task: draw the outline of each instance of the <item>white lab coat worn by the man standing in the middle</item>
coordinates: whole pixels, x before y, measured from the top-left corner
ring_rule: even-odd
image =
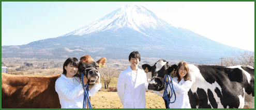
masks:
[[[135,75],[129,66],[118,77],[117,94],[124,108],[146,108],[147,76],[144,70],[139,68],[137,77]]]

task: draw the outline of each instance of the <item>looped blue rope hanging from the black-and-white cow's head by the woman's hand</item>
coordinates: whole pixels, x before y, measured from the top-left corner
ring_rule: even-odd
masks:
[[[168,77],[168,81],[165,80],[166,77]],[[175,94],[175,91],[174,91],[174,88],[173,88],[173,83],[172,83],[172,86],[171,86],[169,79],[171,79],[171,82],[172,82],[172,77],[171,76],[169,76],[169,75],[164,76],[165,89],[164,89],[164,93],[163,93],[163,99],[167,100],[168,108],[170,108],[169,107],[170,103],[174,103],[176,101],[176,94]],[[168,91],[167,91],[168,85],[170,86],[171,93],[172,93],[170,98],[168,97]],[[174,94],[174,101],[170,102],[169,100],[172,98],[173,94]]]

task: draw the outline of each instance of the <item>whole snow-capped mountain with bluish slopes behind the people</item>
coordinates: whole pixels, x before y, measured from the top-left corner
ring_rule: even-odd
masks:
[[[245,51],[212,41],[189,29],[172,26],[146,6],[130,5],[57,38],[2,46],[2,58],[67,59],[89,54],[92,57],[127,59],[133,50],[139,51],[142,57],[192,62]]]

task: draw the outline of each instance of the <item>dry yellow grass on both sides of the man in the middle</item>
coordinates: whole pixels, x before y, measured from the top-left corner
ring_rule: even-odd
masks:
[[[91,100],[93,108],[123,108],[116,92],[98,91]],[[165,108],[162,97],[146,92],[146,108]]]

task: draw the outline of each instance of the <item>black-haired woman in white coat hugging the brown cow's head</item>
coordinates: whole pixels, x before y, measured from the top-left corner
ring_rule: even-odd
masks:
[[[55,82],[55,90],[58,93],[62,108],[83,108],[84,90],[78,73],[79,61],[77,58],[68,58],[63,64],[63,74]],[[86,77],[83,78],[87,82]],[[86,85],[86,83],[84,83]],[[95,84],[89,90],[89,96],[93,96],[101,88],[101,84]],[[88,104],[88,102],[87,102]],[[88,108],[88,105],[86,106]]]

